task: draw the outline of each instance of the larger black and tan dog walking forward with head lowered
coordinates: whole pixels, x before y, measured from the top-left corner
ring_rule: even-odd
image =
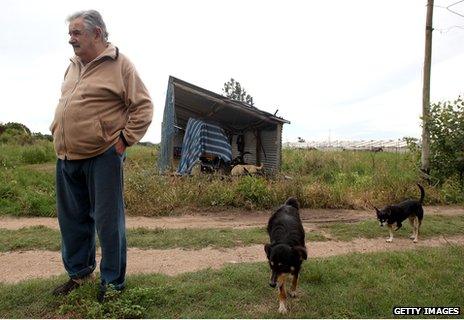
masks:
[[[280,313],[287,312],[285,291],[287,275],[293,276],[289,294],[295,297],[301,264],[308,258],[299,207],[295,198],[289,198],[272,214],[267,224],[270,243],[264,246],[264,251],[271,267],[269,285],[273,288],[278,286],[279,289]]]

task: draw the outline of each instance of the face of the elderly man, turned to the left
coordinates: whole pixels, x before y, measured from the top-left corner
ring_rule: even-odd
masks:
[[[89,62],[95,51],[95,34],[84,27],[82,17],[69,23],[69,44],[72,45],[76,56],[83,62]]]

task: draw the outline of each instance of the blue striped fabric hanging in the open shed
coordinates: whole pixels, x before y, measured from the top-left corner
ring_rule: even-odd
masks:
[[[224,161],[232,160],[232,147],[224,130],[214,124],[190,118],[182,142],[182,155],[177,172],[190,174],[200,156],[209,153]]]

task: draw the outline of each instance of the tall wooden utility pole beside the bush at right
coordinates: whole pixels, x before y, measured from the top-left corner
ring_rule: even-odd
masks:
[[[430,172],[430,68],[432,64],[433,0],[427,0],[425,23],[424,84],[422,88],[422,154],[421,171],[428,178]]]

